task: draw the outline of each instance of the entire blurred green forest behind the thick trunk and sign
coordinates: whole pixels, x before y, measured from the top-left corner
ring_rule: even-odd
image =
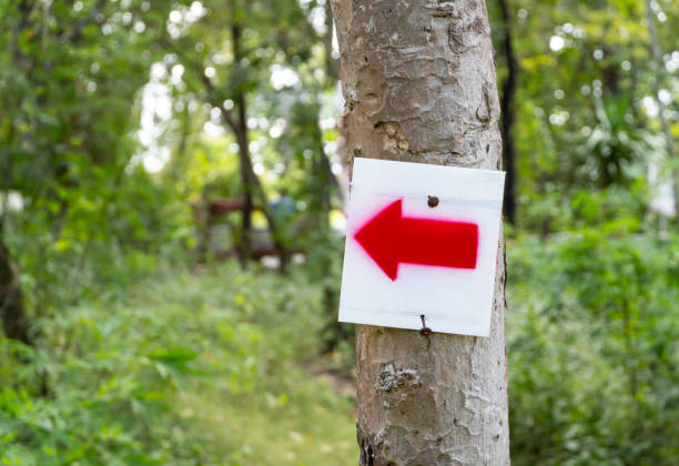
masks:
[[[679,464],[679,2],[487,0],[511,456]],[[0,1],[0,464],[355,464],[326,0]]]

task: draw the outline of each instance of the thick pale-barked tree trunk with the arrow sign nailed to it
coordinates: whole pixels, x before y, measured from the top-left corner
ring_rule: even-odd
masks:
[[[483,0],[333,0],[353,156],[498,170]],[[505,259],[488,338],[358,325],[362,465],[507,465]],[[455,304],[450,303],[452,311]]]

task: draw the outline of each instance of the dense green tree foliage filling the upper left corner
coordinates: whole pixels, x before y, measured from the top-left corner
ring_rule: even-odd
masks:
[[[0,242],[26,306],[45,315],[180,252],[186,213],[132,138],[166,7],[38,3],[0,6]]]

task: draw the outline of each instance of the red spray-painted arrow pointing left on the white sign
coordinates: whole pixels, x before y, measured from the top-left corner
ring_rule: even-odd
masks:
[[[404,217],[401,199],[367,221],[354,237],[392,281],[399,263],[476,269],[476,223]]]

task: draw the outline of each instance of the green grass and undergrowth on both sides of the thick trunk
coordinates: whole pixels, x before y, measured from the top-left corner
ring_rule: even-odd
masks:
[[[515,464],[679,464],[677,244],[508,242]],[[352,348],[322,357],[336,314],[310,270],[162,269],[55,305],[36,348],[0,337],[0,465],[356,464],[330,376]]]

